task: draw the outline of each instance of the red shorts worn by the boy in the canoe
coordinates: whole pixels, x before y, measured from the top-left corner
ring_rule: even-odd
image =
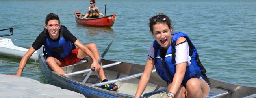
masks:
[[[80,62],[81,60],[83,60],[83,59],[77,58],[78,50],[79,50],[79,48],[72,50],[68,56],[61,58],[61,60],[59,60],[59,58],[55,57],[60,62],[59,67],[76,64],[77,62]]]

